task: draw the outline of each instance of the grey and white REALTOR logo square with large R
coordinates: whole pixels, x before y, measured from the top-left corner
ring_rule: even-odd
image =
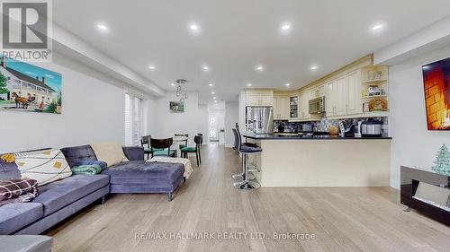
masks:
[[[51,61],[49,0],[1,1],[3,56],[31,62]]]

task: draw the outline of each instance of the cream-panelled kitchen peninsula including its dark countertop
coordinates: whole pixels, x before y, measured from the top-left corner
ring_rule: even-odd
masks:
[[[261,187],[389,187],[390,137],[243,135]]]

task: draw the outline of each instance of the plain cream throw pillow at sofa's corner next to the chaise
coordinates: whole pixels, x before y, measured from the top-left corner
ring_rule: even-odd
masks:
[[[91,143],[98,161],[104,161],[108,167],[129,161],[119,143]]]

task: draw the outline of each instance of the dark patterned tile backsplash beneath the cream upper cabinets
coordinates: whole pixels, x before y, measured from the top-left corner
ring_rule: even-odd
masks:
[[[349,125],[357,125],[359,121],[367,121],[369,118],[373,118],[375,120],[379,120],[383,122],[382,126],[382,134],[383,136],[389,135],[389,123],[388,117],[360,117],[360,118],[351,118],[351,119],[335,119],[329,120],[326,117],[322,117],[320,121],[316,122],[289,122],[289,121],[274,121],[274,132],[279,132],[279,126],[284,127],[284,132],[328,132],[329,126],[337,126],[341,120],[347,121]],[[282,129],[282,128],[280,128]]]

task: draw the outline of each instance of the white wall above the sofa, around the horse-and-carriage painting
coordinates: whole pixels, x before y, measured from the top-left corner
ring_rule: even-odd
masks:
[[[54,61],[34,65],[62,74],[62,114],[0,110],[0,153],[123,142],[121,86],[75,71],[89,73],[64,56],[56,56]]]

